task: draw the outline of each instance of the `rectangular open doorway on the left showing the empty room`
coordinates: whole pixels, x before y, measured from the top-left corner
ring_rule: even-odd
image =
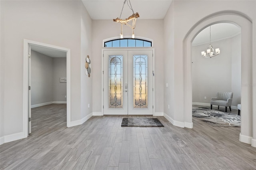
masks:
[[[31,126],[29,134],[45,125],[66,123],[66,51],[30,45]],[[31,68],[31,69],[30,69]]]

